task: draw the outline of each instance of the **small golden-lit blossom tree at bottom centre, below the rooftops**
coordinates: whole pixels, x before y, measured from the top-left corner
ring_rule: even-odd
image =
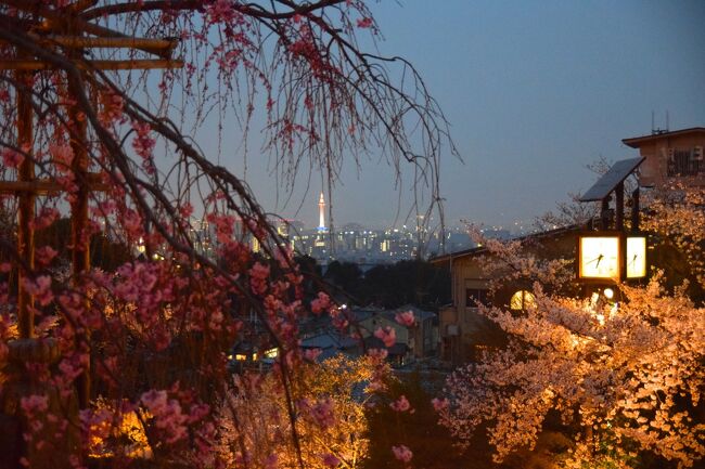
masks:
[[[307,468],[360,468],[368,455],[366,403],[373,359],[336,356],[299,368],[293,398]],[[219,420],[226,431],[218,451],[227,467],[296,467],[286,402],[273,375],[238,378]],[[234,438],[233,438],[234,437]]]

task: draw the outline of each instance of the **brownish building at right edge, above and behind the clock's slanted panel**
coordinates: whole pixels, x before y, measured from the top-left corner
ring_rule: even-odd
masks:
[[[621,142],[646,158],[640,168],[641,186],[659,187],[671,182],[705,186],[705,128],[656,131]]]

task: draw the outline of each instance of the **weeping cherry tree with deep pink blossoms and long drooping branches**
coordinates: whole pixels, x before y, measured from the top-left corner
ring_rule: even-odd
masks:
[[[0,1],[2,204],[18,217],[0,236],[0,393],[21,448],[10,464],[81,467],[95,447],[128,464],[134,452],[95,440],[127,418],[152,465],[218,467],[227,354],[247,338],[279,350],[270,389],[286,457],[305,466],[302,272],[244,180],[191,134],[215,115],[244,141],[259,113],[289,184],[320,169],[330,191],[344,157],[381,153],[399,171],[409,162],[437,207],[447,122],[411,64],[366,52],[359,35],[379,37],[360,0]],[[68,212],[66,271],[26,239]],[[192,218],[208,223],[210,250]],[[99,233],[134,259],[92,266]],[[233,435],[248,404],[229,416]]]

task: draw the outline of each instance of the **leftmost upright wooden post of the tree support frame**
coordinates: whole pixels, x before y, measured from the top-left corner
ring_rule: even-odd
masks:
[[[35,179],[35,161],[31,157],[34,142],[31,92],[24,87],[31,80],[31,75],[17,71],[17,146],[28,155],[20,165],[17,180],[30,182]],[[21,339],[29,339],[35,335],[35,300],[24,287],[29,278],[29,272],[35,268],[35,194],[23,191],[20,196],[20,213],[17,220],[17,251],[22,263],[17,269],[17,323]]]

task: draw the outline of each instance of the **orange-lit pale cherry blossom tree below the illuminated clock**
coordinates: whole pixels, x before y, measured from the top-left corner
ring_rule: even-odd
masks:
[[[702,233],[690,231],[690,240],[702,243]],[[620,295],[614,301],[566,296],[559,287],[571,276],[569,263],[542,264],[517,243],[486,246],[495,272],[534,282],[535,301],[521,314],[480,308],[509,343],[454,372],[445,399],[435,402],[459,442],[469,444],[486,427],[501,461],[534,447],[557,413],[575,442],[553,461],[559,467],[639,467],[646,455],[661,466],[702,463],[702,304],[684,287],[668,291],[658,272],[645,286],[613,286]]]

